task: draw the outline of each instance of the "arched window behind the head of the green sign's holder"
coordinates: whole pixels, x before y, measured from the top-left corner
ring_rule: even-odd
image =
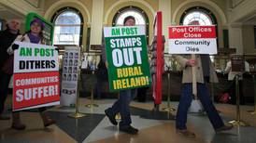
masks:
[[[128,16],[135,17],[135,25],[145,26],[147,42],[149,44],[149,18],[145,13],[145,11],[142,10],[141,8],[133,7],[133,6],[121,8],[114,16],[114,19],[112,20],[112,25],[113,26],[123,25],[123,20]]]

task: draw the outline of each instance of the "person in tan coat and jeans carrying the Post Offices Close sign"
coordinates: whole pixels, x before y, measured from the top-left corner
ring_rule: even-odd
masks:
[[[198,25],[198,21],[193,21],[190,25]],[[217,83],[218,77],[214,71],[214,67],[209,58],[209,55],[196,55],[196,58],[191,56],[174,56],[180,64],[182,75],[182,91],[178,104],[178,112],[176,119],[177,133],[183,136],[195,137],[195,134],[187,129],[187,115],[192,103],[192,67],[195,67],[195,77],[197,86],[197,97],[200,99],[207,116],[216,132],[229,130],[233,126],[225,125],[220,118],[218,111],[215,109],[206,87],[206,82]]]

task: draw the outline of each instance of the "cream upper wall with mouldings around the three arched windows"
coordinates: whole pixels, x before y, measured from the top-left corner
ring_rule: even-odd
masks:
[[[235,46],[237,39],[241,40],[239,43],[242,45],[240,51],[245,53],[256,53],[255,44],[253,41],[253,26],[244,25],[242,26],[241,34],[238,34],[239,28],[231,28],[234,25],[234,22],[241,22],[248,19],[249,17],[256,14],[255,7],[256,2],[254,0],[244,0],[241,3],[236,4],[235,6],[232,3],[228,3],[223,0],[163,0],[161,3],[159,1],[152,0],[102,0],[104,1],[104,14],[101,18],[104,26],[111,26],[112,20],[116,12],[122,7],[135,6],[143,9],[149,17],[149,42],[152,38],[153,32],[153,20],[155,12],[158,10],[165,10],[164,21],[169,22],[173,25],[178,25],[180,17],[184,10],[189,7],[206,7],[211,10],[217,18],[218,21],[218,36],[219,36],[219,45],[223,47],[223,37],[222,30],[229,29],[230,45]],[[27,2],[32,2],[28,4]],[[232,2],[232,1],[229,1]],[[183,5],[186,3],[186,5]],[[27,11],[34,11],[39,15],[44,16],[47,20],[50,20],[54,12],[62,7],[75,7],[81,11],[81,14],[84,18],[84,27],[83,27],[83,38],[82,45],[87,43],[87,29],[92,26],[92,4],[93,0],[44,0],[44,1],[25,1],[25,0],[0,0],[0,4],[8,7],[11,11],[19,13],[21,20],[25,19],[25,14]],[[161,6],[161,5],[162,6]],[[163,6],[163,4],[169,4],[169,6]],[[33,7],[37,5],[39,7]],[[43,6],[42,6],[43,5]],[[115,7],[113,7],[115,6]],[[170,7],[170,9],[167,9]],[[25,9],[25,10],[22,10]],[[242,10],[241,10],[242,9]],[[240,10],[240,11],[239,11]],[[0,13],[4,13],[0,11]],[[166,14],[167,13],[167,14]],[[10,15],[12,15],[10,13]],[[13,16],[15,16],[13,14]],[[169,19],[169,20],[168,20]],[[24,22],[24,21],[23,21]],[[94,24],[94,23],[93,23]],[[22,24],[23,27],[24,24]],[[165,23],[165,26],[168,25]],[[23,28],[21,28],[21,32]],[[232,32],[234,31],[234,32]],[[101,33],[101,32],[99,32]],[[236,35],[233,33],[237,33]],[[241,36],[240,36],[241,35]],[[242,37],[242,39],[240,38]],[[236,42],[236,43],[235,43]],[[231,47],[230,46],[230,47]]]

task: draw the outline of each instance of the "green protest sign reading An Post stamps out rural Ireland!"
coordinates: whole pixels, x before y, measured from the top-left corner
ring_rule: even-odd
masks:
[[[104,28],[110,91],[151,84],[145,33],[143,26]]]

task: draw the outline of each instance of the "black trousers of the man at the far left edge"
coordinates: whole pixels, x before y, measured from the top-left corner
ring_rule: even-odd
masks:
[[[0,114],[5,109],[5,102],[7,99],[8,84],[11,74],[7,74],[4,71],[0,71]]]

